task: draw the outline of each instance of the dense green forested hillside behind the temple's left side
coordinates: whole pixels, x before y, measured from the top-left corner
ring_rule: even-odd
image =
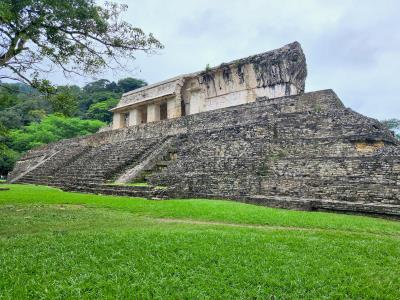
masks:
[[[0,85],[0,175],[27,150],[94,133],[111,122],[109,109],[122,93],[145,86],[140,79],[100,79],[83,87],[57,86],[43,94],[23,83]]]

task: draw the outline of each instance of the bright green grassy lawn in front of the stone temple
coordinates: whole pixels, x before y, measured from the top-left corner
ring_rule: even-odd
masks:
[[[0,191],[0,298],[400,298],[400,222]]]

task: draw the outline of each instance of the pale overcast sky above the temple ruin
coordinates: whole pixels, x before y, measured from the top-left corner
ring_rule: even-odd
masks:
[[[108,73],[110,80],[154,83],[297,40],[307,58],[306,91],[331,88],[360,113],[400,118],[400,1],[118,2],[129,5],[124,19],[152,32],[165,49],[138,55],[135,71]]]

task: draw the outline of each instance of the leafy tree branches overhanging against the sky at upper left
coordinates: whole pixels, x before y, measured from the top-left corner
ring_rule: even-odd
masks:
[[[90,75],[122,66],[121,59],[134,58],[136,51],[162,48],[151,33],[121,20],[126,9],[95,0],[1,0],[0,80],[48,91],[51,86],[40,74],[54,66],[65,75]]]

